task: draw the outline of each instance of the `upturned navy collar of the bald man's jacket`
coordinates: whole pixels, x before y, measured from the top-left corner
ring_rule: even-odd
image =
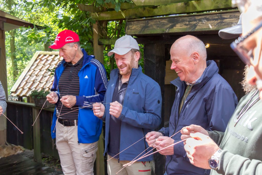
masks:
[[[200,88],[202,87],[204,84],[206,84],[206,82],[209,81],[210,78],[212,78],[216,73],[218,73],[218,67],[216,65],[216,62],[213,60],[208,60],[206,61],[206,68],[203,72],[203,74],[201,75],[201,77],[198,79],[198,81],[196,81],[196,83],[194,84],[194,88]],[[173,81],[170,82],[171,84],[173,84],[174,86],[176,86],[178,88],[178,90],[183,91],[183,89],[185,89],[185,87],[187,86],[187,84],[185,83],[185,81],[181,81],[180,78],[176,78]]]

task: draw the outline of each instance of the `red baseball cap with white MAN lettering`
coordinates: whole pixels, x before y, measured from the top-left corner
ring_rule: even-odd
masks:
[[[79,36],[72,30],[63,30],[61,31],[54,40],[54,43],[49,47],[51,49],[59,49],[67,43],[74,43],[79,41]]]

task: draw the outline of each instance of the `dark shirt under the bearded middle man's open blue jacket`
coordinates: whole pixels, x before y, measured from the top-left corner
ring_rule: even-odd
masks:
[[[125,92],[127,91],[128,81],[122,83],[122,75],[118,74],[118,79],[116,83],[116,88],[114,89],[112,102],[117,101],[123,105]],[[115,156],[119,153],[120,146],[120,132],[121,132],[121,120],[110,115],[110,127],[109,127],[109,146],[108,146],[108,155]],[[114,158],[119,158],[117,155]]]

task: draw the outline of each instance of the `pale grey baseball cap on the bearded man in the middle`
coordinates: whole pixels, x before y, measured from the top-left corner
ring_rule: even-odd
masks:
[[[130,35],[125,35],[116,40],[114,49],[107,53],[108,56],[113,55],[114,53],[118,55],[125,55],[131,49],[139,50],[137,41]]]

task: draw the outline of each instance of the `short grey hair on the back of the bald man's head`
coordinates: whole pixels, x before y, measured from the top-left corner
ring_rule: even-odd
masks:
[[[206,60],[207,54],[206,54],[206,46],[200,39],[196,38],[191,39],[190,43],[188,43],[188,54],[191,55],[193,52],[198,52],[199,56]]]

